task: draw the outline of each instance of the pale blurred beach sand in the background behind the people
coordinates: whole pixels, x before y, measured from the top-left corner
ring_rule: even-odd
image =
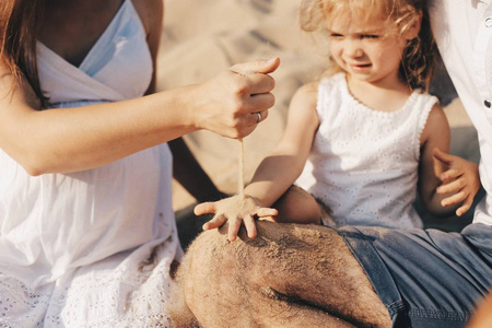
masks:
[[[326,45],[298,27],[300,1],[166,0],[164,3],[159,90],[204,81],[237,62],[281,59],[280,68],[272,74],[277,81],[273,91],[277,103],[267,120],[244,140],[247,181],[279,141],[295,90],[324,71]],[[452,127],[450,152],[477,162],[477,134],[459,99],[446,104],[445,113]],[[223,191],[235,192],[238,142],[208,131],[191,133],[185,140],[212,180]],[[173,187],[177,219],[189,216],[195,199],[177,183]],[[452,219],[445,229],[457,229],[464,222]]]

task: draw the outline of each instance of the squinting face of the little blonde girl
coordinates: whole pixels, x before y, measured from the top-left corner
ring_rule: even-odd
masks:
[[[370,83],[398,83],[406,46],[395,25],[378,17],[347,14],[328,27],[335,61],[352,78]]]

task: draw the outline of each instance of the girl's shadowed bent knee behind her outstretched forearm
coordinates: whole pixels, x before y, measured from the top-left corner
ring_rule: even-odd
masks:
[[[303,188],[291,186],[273,204],[279,211],[274,221],[281,223],[315,223],[320,224],[324,213],[316,199]]]

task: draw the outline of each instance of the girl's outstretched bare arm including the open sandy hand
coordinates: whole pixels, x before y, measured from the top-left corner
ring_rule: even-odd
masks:
[[[301,175],[313,138],[318,127],[316,113],[317,83],[301,87],[293,96],[288,124],[276,149],[258,166],[245,188],[246,199],[237,196],[218,202],[198,204],[195,213],[215,213],[203,225],[204,230],[219,227],[229,221],[227,237],[234,241],[244,222],[249,237],[256,236],[254,216],[274,215],[269,209]],[[251,203],[253,201],[253,203]],[[274,214],[272,214],[274,213]]]

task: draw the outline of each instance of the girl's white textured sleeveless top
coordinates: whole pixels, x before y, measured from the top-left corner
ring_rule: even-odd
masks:
[[[420,136],[437,98],[414,91],[393,113],[359,103],[343,73],[318,87],[319,128],[296,184],[339,225],[420,227],[415,199]]]

